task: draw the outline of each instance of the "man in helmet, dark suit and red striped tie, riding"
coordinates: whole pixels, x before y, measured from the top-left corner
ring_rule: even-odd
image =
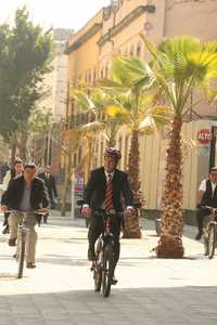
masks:
[[[103,231],[102,219],[95,211],[103,210],[105,213],[116,212],[112,233],[114,235],[114,263],[119,259],[119,233],[122,220],[118,212],[123,211],[122,195],[124,196],[128,212],[133,212],[133,196],[130,191],[127,173],[117,169],[118,160],[122,158],[120,152],[114,147],[107,147],[104,153],[104,167],[91,171],[90,179],[84,193],[82,214],[90,218],[88,232],[88,259],[94,261],[94,243]],[[112,284],[117,280],[113,277]]]

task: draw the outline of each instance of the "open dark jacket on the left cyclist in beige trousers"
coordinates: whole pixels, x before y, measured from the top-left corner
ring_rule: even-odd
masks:
[[[1,198],[1,204],[8,206],[10,209],[18,210],[21,200],[24,195],[25,180],[24,177],[14,178],[8,190],[4,192]],[[47,208],[49,206],[48,193],[44,186],[44,182],[39,178],[35,178],[31,184],[30,205],[33,210]]]

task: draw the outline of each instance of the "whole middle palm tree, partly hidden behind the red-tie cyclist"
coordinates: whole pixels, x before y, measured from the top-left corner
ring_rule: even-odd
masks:
[[[169,109],[155,104],[156,92],[148,89],[153,80],[145,72],[145,65],[138,57],[117,56],[113,60],[110,79],[98,82],[112,100],[106,110],[108,116],[119,118],[131,132],[129,150],[128,178],[135,200],[141,204],[140,192],[140,145],[142,133],[153,133],[158,127],[168,123],[171,116]],[[129,222],[128,222],[129,221]],[[126,220],[124,237],[141,237],[139,218]]]

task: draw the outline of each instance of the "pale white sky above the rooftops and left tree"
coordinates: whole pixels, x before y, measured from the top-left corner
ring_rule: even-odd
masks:
[[[111,0],[0,0],[0,24],[11,22],[17,8],[26,4],[30,17],[46,28],[81,28]]]

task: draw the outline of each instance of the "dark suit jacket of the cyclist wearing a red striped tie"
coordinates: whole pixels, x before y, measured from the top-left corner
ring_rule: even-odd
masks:
[[[113,177],[113,206],[116,211],[123,211],[122,194],[126,206],[133,205],[132,192],[129,188],[127,173],[118,169]],[[84,192],[85,204],[88,204],[93,210],[100,209],[105,199],[106,177],[104,167],[91,171],[90,179]]]

